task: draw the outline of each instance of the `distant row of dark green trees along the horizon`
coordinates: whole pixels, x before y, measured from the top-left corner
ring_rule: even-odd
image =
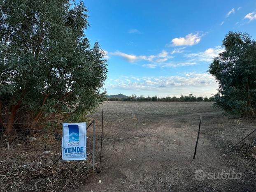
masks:
[[[196,97],[192,94],[189,95],[181,95],[180,97],[158,97],[153,96],[153,97],[144,97],[140,96],[137,97],[137,95],[132,95],[132,97],[123,97],[123,98],[118,98],[118,97],[112,97],[112,98],[107,98],[107,101],[136,101],[136,102],[210,102],[214,101],[214,97]]]

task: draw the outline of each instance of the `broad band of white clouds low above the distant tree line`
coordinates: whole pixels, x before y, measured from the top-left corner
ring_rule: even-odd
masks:
[[[208,73],[186,73],[175,76],[145,76],[145,77],[127,77],[120,76],[118,81],[107,81],[107,90],[131,90],[138,91],[142,95],[147,96],[147,91],[153,94],[172,94],[172,95],[188,95],[193,93],[196,95],[205,94],[210,96],[216,93],[218,84],[214,77]],[[159,96],[159,95],[158,95]]]

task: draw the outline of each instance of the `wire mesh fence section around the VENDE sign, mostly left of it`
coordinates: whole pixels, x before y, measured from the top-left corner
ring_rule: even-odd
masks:
[[[56,123],[54,126],[53,124]],[[3,123],[0,123],[3,125]],[[7,134],[5,129],[0,130],[0,148],[12,150],[33,150],[47,154],[55,152],[61,155],[62,123],[45,122],[33,125],[31,123],[14,123],[15,128]],[[20,127],[20,128],[19,128]],[[27,127],[27,128],[25,128]],[[93,121],[88,123],[88,128],[93,129]],[[86,143],[89,160],[93,153],[93,135],[88,135]],[[48,151],[46,151],[48,150]]]

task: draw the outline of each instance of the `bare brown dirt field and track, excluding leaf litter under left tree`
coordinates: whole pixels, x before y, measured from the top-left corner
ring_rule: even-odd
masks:
[[[96,120],[98,167],[104,109],[101,173],[77,191],[256,191],[255,153],[241,149],[251,145],[255,132],[235,146],[256,128],[256,121],[225,116],[212,104],[105,102],[91,115]],[[227,179],[228,173],[239,179]]]

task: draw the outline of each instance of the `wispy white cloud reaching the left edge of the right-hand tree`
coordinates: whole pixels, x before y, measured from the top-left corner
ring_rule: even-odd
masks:
[[[215,48],[206,49],[204,52],[187,54],[186,57],[191,58],[192,61],[211,62],[221,52],[223,52],[221,46],[216,46]]]

